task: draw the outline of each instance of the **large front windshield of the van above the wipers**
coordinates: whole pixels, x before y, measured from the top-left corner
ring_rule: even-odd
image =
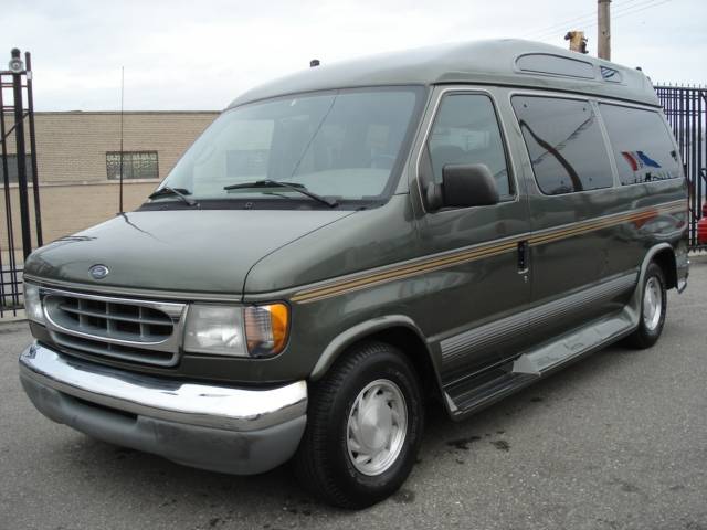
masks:
[[[362,88],[235,107],[203,132],[160,188],[177,189],[197,201],[303,200],[282,187],[233,186],[276,180],[337,201],[380,199],[394,184],[420,92]],[[154,200],[177,198],[165,193]]]

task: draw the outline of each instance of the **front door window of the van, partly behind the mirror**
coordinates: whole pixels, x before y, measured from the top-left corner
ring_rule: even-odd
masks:
[[[442,168],[447,163],[485,163],[496,179],[498,195],[502,199],[511,195],[506,152],[488,96],[445,96],[434,119],[428,148],[435,182],[442,182]]]

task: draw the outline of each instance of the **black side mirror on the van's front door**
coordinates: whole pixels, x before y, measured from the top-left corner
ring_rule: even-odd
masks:
[[[442,184],[430,184],[428,204],[440,208],[469,208],[497,204],[498,188],[485,163],[447,163],[442,168]]]

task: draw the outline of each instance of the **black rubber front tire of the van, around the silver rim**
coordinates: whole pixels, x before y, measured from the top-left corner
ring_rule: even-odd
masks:
[[[359,393],[379,380],[394,383],[404,398],[407,428],[397,457],[370,476],[357,469],[349,456],[348,422]],[[294,457],[300,484],[325,502],[348,509],[366,508],[395,492],[408,478],[422,439],[420,388],[414,368],[397,348],[365,342],[349,350],[310,386],[307,428]]]

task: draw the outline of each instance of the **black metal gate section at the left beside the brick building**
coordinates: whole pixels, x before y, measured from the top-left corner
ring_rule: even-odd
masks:
[[[29,146],[27,145],[29,140]],[[29,149],[28,149],[29,147]],[[22,268],[32,252],[32,235],[42,245],[40,189],[36,174],[32,63],[30,53],[11,51],[0,71],[0,171],[4,192],[4,230],[0,230],[0,318],[22,307]],[[34,230],[28,181],[32,183]],[[17,208],[13,213],[13,208]],[[0,224],[1,226],[1,224]]]

